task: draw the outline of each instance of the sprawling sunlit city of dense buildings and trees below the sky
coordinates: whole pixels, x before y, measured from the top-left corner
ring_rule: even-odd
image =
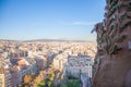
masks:
[[[1,40],[0,87],[86,87],[95,54],[90,42]]]

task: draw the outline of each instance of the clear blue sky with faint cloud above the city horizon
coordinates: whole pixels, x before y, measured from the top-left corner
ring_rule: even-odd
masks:
[[[94,40],[106,0],[0,0],[0,39]]]

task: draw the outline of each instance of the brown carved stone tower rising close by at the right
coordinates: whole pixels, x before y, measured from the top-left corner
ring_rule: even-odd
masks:
[[[106,0],[97,23],[93,87],[131,87],[131,0]]]

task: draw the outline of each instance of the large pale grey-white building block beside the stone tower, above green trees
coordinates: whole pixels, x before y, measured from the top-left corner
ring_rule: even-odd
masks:
[[[64,76],[80,77],[81,74],[92,77],[93,62],[87,57],[71,57],[64,66]]]

